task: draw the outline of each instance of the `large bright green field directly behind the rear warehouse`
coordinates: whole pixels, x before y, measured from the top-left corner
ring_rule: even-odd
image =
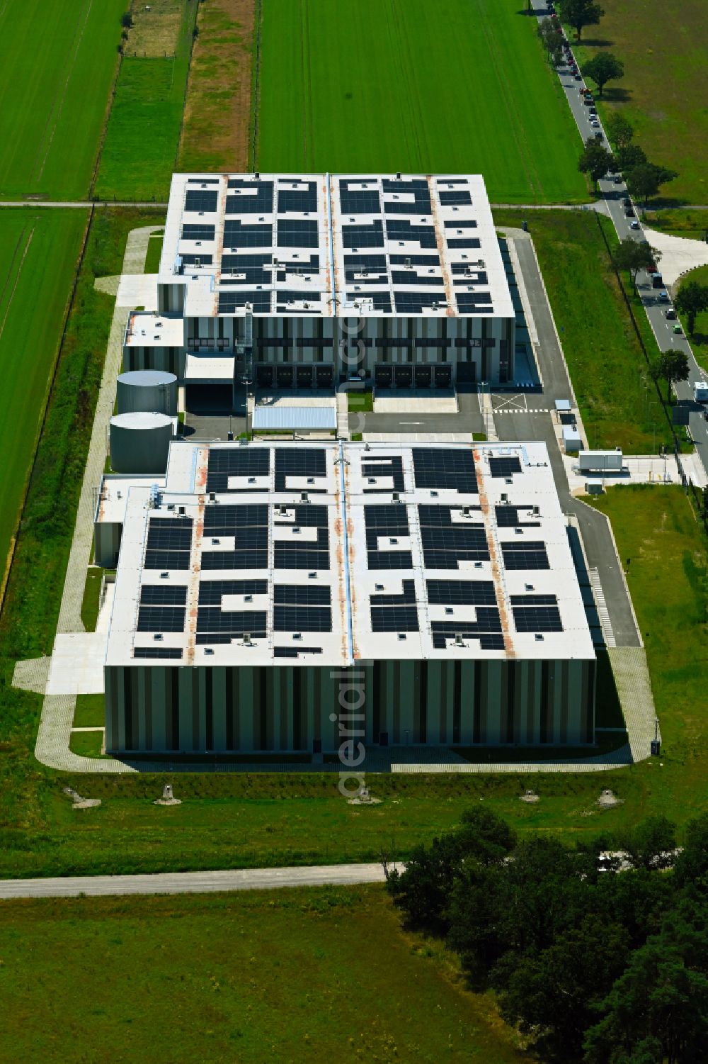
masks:
[[[484,173],[495,202],[586,199],[577,131],[521,7],[268,0],[260,169]]]

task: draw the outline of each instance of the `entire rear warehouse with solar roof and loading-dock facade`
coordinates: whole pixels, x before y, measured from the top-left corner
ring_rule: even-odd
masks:
[[[172,178],[157,312],[123,369],[189,392],[513,379],[515,311],[482,177]]]

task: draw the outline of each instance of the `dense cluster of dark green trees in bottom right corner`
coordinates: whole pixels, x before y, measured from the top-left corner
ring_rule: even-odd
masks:
[[[708,815],[677,850],[663,817],[571,846],[478,807],[387,890],[546,1064],[705,1062]]]

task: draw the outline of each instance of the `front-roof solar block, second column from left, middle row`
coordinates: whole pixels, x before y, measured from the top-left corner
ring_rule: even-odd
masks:
[[[235,538],[235,545],[219,549],[222,538]],[[208,549],[207,549],[208,547]],[[267,569],[268,506],[224,505],[210,503],[204,508],[202,569]]]

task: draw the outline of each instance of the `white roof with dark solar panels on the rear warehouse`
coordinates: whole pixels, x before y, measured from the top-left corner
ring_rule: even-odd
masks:
[[[175,173],[159,283],[185,315],[513,317],[484,179]]]

